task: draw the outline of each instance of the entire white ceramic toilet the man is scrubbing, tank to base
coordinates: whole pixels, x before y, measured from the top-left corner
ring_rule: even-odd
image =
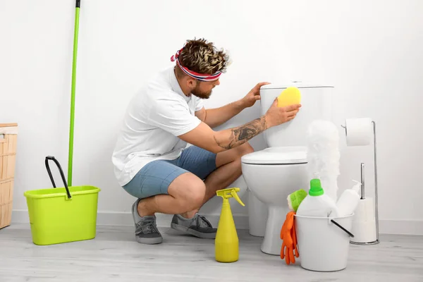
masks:
[[[249,202],[255,203],[248,207],[250,234],[261,235],[257,226],[265,226],[260,249],[269,255],[281,254],[281,228],[289,212],[288,195],[298,189],[309,189],[308,126],[317,119],[333,119],[333,87],[302,82],[264,85],[260,89],[260,114],[266,114],[274,99],[292,86],[301,92],[302,107],[297,116],[288,123],[264,131],[266,149],[241,158],[243,177],[251,197]],[[263,212],[263,207],[267,213]]]

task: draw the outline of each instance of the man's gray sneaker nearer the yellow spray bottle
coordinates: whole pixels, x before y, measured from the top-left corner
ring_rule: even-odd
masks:
[[[171,228],[195,235],[198,238],[214,239],[216,238],[217,228],[213,228],[212,224],[199,214],[195,214],[192,219],[185,219],[179,214],[175,214],[172,219]]]

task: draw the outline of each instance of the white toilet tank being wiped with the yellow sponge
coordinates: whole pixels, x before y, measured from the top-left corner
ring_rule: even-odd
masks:
[[[333,86],[293,82],[281,85],[264,85],[260,88],[260,111],[266,114],[274,99],[287,87],[297,87],[301,93],[301,108],[297,116],[287,123],[265,130],[267,147],[306,146],[307,128],[317,119],[333,121]]]

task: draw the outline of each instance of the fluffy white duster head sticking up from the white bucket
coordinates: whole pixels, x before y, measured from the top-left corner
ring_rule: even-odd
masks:
[[[307,170],[318,178],[326,195],[337,200],[339,175],[339,133],[331,121],[317,120],[307,130]]]

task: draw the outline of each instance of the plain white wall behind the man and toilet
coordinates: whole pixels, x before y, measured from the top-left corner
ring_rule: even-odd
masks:
[[[0,122],[20,125],[13,220],[27,221],[23,192],[51,186],[44,157],[67,170],[74,0],[0,7]],[[209,107],[240,99],[259,81],[302,80],[336,87],[338,125],[373,118],[381,231],[421,233],[422,10],[420,0],[82,0],[73,184],[102,189],[99,212],[111,213],[103,223],[123,219],[133,198],[114,179],[111,151],[125,106],[185,39],[205,37],[233,58]],[[257,106],[223,127],[257,117]],[[252,145],[262,149],[262,136]],[[341,188],[360,178],[364,161],[371,193],[372,147],[341,147]]]

